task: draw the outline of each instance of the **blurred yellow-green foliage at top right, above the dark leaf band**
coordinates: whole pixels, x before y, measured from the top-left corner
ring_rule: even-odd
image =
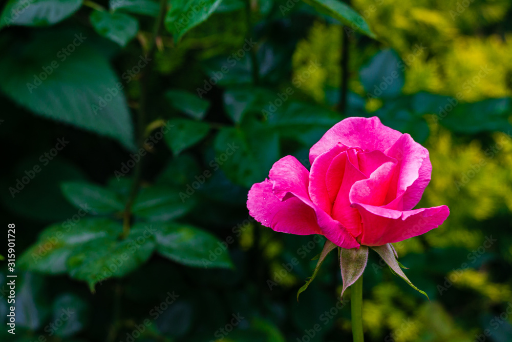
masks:
[[[477,25],[502,20],[510,3],[474,2],[462,9],[458,4],[462,6],[458,0],[356,0],[353,6],[385,46],[395,49],[408,66],[404,93],[429,91],[455,96],[461,92],[464,102],[510,95],[512,37],[467,35],[473,33],[468,29]],[[339,86],[341,33],[339,26],[317,22],[293,56],[295,73],[307,68],[312,59],[321,61],[322,68],[303,86],[303,91],[319,103],[325,100],[326,87]],[[350,88],[364,95],[357,71],[368,61],[372,48],[361,50],[356,43],[351,41]],[[418,47],[424,49],[415,54]]]

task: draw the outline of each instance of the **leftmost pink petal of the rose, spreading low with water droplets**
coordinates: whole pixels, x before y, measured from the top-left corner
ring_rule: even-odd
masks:
[[[314,210],[296,197],[279,200],[272,193],[272,182],[268,179],[251,187],[247,208],[258,222],[276,232],[322,234]]]

